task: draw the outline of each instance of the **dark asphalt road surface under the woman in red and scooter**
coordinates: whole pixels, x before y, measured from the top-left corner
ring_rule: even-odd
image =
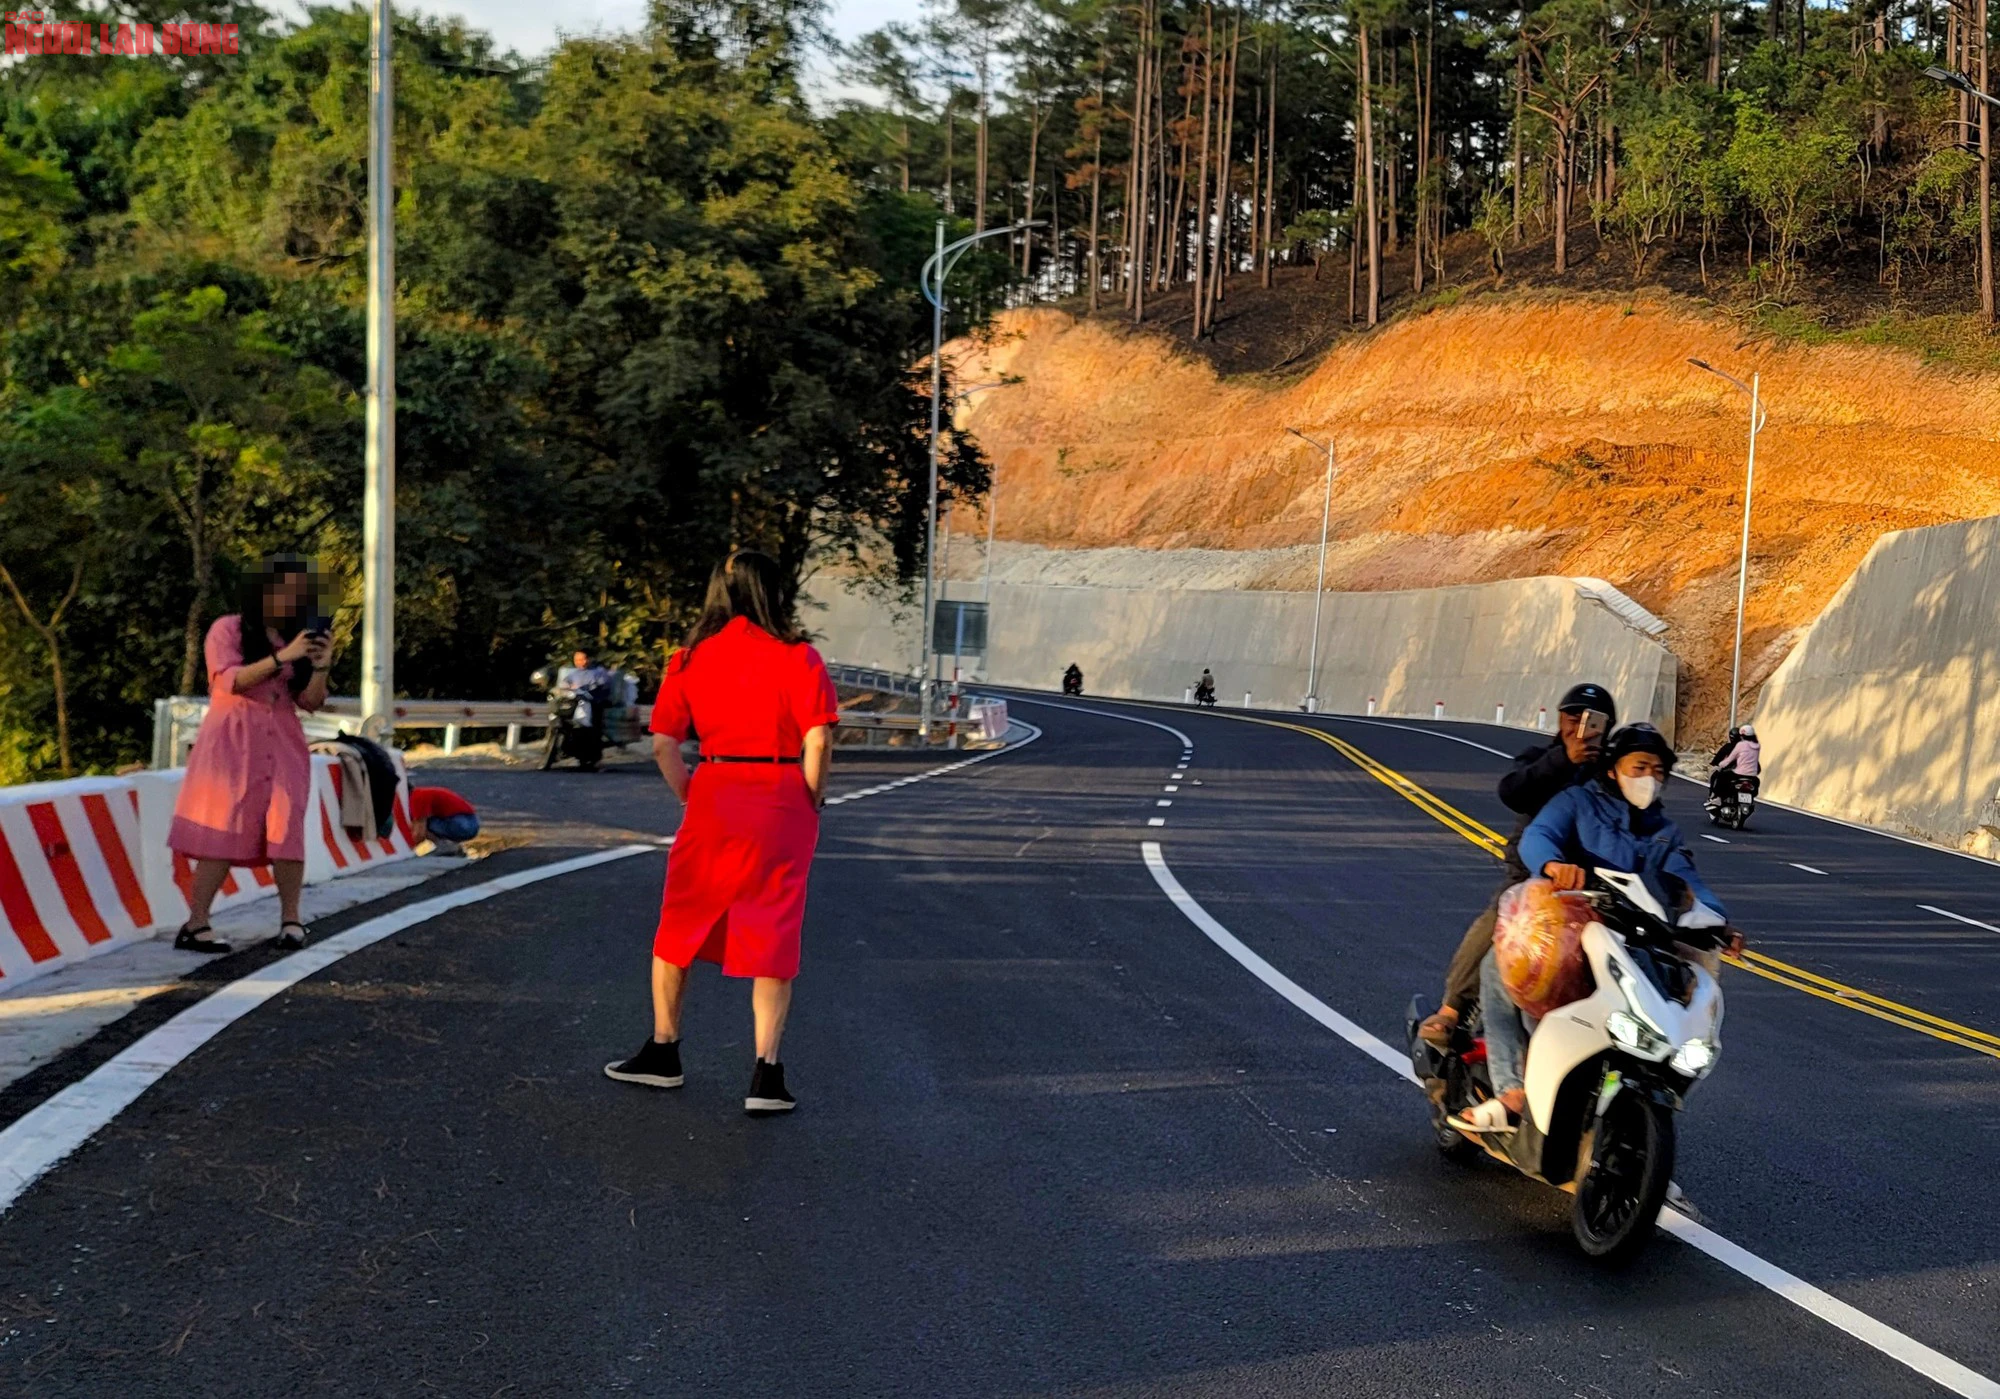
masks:
[[[1564,1195],[1442,1161],[1416,1089],[1224,955],[1140,843],[1390,1043],[1490,855],[1308,735],[1018,713],[1040,741],[828,811],[798,1113],[742,1117],[746,993],[712,969],[684,1089],[602,1077],[646,1033],[658,855],[444,913],[226,1029],[0,1215],[0,1393],[1944,1393],[1674,1239],[1584,1261]],[[1518,731],[1322,723],[1504,823],[1502,759],[1454,739]],[[858,791],[926,759],[838,761]],[[636,775],[472,781],[672,827]],[[2000,925],[1992,865],[1770,807],[1730,841],[1702,865],[1760,947],[2000,1029],[2000,933],[1918,909]],[[1702,1219],[2000,1375],[2000,1061],[1726,991],[1676,1171]]]

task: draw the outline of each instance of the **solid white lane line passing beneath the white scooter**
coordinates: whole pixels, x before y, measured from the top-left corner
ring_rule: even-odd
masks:
[[[1346,1039],[1350,1045],[1366,1053],[1370,1059],[1390,1069],[1402,1079],[1416,1083],[1416,1071],[1410,1067],[1410,1057],[1406,1053],[1396,1053],[1386,1043],[1370,1035],[1366,1029],[1356,1025],[1352,1019],[1330,1007],[1326,1001],[1316,997],[1312,991],[1304,989],[1292,977],[1278,971],[1274,965],[1264,961],[1260,955],[1250,951],[1230,929],[1218,923],[1208,909],[1194,901],[1194,895],[1180,887],[1180,879],[1174,871],[1166,867],[1166,857],[1160,853],[1158,841],[1140,841],[1140,853],[1146,857],[1146,869],[1152,871],[1154,883],[1160,891],[1178,907],[1190,923],[1200,927],[1208,941],[1212,941],[1222,951],[1230,953],[1240,961],[1252,975],[1256,975],[1272,991],[1288,999],[1298,1009],[1306,1011],[1312,1019],[1326,1025],[1330,1031]],[[1786,1301],[1804,1311],[1810,1311],[1820,1321],[1838,1327],[1852,1335],[1864,1345],[1872,1345],[1894,1361],[1900,1361],[1914,1369],[1918,1375],[1932,1379],[1956,1395],[1966,1399],[2000,1399],[2000,1383],[1994,1383],[1974,1369],[1960,1365],[1948,1355],[1940,1355],[1922,1341],[1916,1341],[1902,1331],[1896,1331],[1882,1321],[1876,1321],[1866,1311],[1850,1307],[1832,1293],[1826,1293],[1802,1277],[1786,1273],[1776,1263],[1770,1263],[1740,1243],[1724,1239],[1714,1229],[1698,1225],[1676,1209],[1660,1211],[1660,1227],[1672,1233],[1682,1243],[1688,1243],[1708,1257],[1716,1259],[1728,1269],[1742,1273],[1752,1283],[1768,1287]]]

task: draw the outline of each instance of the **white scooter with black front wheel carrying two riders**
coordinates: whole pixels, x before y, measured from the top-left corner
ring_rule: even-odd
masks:
[[[1654,885],[1654,887],[1648,887]],[[1674,1175],[1674,1113],[1722,1053],[1716,949],[1726,925],[1694,905],[1666,913],[1656,881],[1594,869],[1582,947],[1596,989],[1550,1011],[1528,1039],[1528,1111],[1506,1133],[1466,1133],[1450,1119],[1492,1097],[1486,1041],[1466,1027],[1438,1049],[1416,1027],[1410,1063],[1430,1093],[1438,1147],[1454,1159],[1484,1149],[1522,1175],[1576,1197],[1570,1229],[1584,1253],[1620,1259],[1652,1237]]]

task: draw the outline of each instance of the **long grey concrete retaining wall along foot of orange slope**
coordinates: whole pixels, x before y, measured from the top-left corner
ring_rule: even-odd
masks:
[[[978,598],[976,584],[954,596]],[[828,658],[910,672],[918,608],[892,606],[822,578],[806,626]],[[1180,700],[1202,668],[1218,698],[1296,707],[1306,696],[1312,594],[1236,590],[1078,588],[994,582],[992,654],[972,674],[994,684],[1054,688],[1066,664],[1090,694]],[[950,664],[946,660],[946,664]],[[970,672],[970,664],[968,664]],[[1468,588],[1326,594],[1320,622],[1320,707],[1446,715],[1534,725],[1542,705],[1578,680],[1618,696],[1624,717],[1674,731],[1674,656],[1566,578]]]

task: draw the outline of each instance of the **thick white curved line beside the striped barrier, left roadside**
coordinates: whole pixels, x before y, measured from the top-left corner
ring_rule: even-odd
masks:
[[[12,1209],[34,1181],[82,1147],[110,1121],[130,1107],[140,1093],[158,1083],[166,1073],[190,1053],[206,1045],[238,1019],[254,1011],[280,991],[286,991],[306,977],[324,971],[348,953],[392,937],[406,927],[424,923],[450,909],[480,903],[498,893],[554,879],[556,875],[590,869],[592,865],[626,859],[630,855],[650,855],[660,847],[620,845],[600,849],[572,859],[558,859],[532,869],[454,889],[430,899],[406,903],[400,909],[378,913],[346,931],[334,933],[326,941],[312,943],[304,951],[294,951],[282,961],[274,961],[262,971],[238,977],[174,1015],[158,1029],[142,1035],[136,1043],[120,1049],[96,1069],[70,1083],[60,1093],[28,1109],[0,1131],[0,1213]]]

